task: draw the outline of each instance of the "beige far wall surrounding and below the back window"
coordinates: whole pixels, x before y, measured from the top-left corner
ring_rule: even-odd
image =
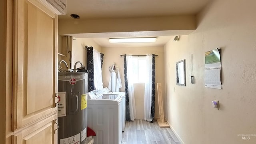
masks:
[[[164,48],[163,47],[122,47],[122,48],[102,48],[104,54],[103,61],[103,86],[107,87],[110,80],[109,66],[115,62],[117,68],[120,70],[120,76],[122,80],[122,88],[120,91],[124,92],[124,57],[122,54],[134,54],[134,55],[145,55],[145,54],[158,54],[155,57],[156,62],[156,83],[162,83],[164,85]],[[157,90],[157,89],[156,89]],[[134,84],[134,95],[136,101],[136,112],[137,119],[144,119],[144,84]],[[163,96],[165,96],[163,90]],[[165,100],[165,97],[164,97]],[[165,100],[166,101],[166,100]],[[165,105],[166,106],[166,105]],[[156,104],[155,104],[155,117],[159,118],[158,110],[158,96],[156,91]]]

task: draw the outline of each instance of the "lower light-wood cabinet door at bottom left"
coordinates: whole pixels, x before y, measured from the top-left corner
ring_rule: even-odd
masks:
[[[56,115],[49,116],[31,127],[16,132],[12,144],[57,144]]]

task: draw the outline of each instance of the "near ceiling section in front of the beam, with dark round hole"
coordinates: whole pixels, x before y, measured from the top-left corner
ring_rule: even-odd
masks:
[[[210,0],[67,0],[67,15],[88,18],[134,18],[152,16],[194,15]]]

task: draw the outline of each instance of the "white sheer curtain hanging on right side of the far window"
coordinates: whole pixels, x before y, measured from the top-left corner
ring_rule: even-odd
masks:
[[[152,104],[152,55],[146,56],[146,82],[144,95],[144,120],[152,121],[151,104]]]

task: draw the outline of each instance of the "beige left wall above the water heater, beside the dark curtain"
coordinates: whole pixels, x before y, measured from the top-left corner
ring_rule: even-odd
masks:
[[[62,40],[62,38],[59,38],[59,40]],[[61,43],[61,42],[59,42]],[[64,43],[62,43],[62,47],[60,48],[65,48],[63,46]],[[72,51],[72,66],[71,68],[74,68],[74,64],[77,61],[80,61],[83,63],[84,66],[87,65],[87,54],[86,54],[86,48],[85,46],[92,46],[94,50],[97,50],[98,52],[101,52],[101,46],[99,46],[96,42],[92,40],[92,38],[75,38],[71,37],[70,38],[70,50]],[[62,51],[63,52],[63,51]],[[68,65],[69,65],[69,54],[67,57],[64,56],[58,56],[58,61],[60,60],[65,60]],[[77,64],[77,68],[79,68],[81,65]]]

